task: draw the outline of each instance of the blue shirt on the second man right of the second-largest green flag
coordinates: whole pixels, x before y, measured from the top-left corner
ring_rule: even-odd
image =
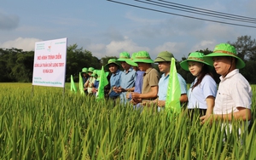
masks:
[[[120,86],[122,89],[131,89],[135,85],[136,79],[136,71],[133,70],[131,67],[127,72],[122,71],[122,75],[120,77]],[[122,92],[120,94],[120,102],[125,103],[127,102],[126,92]]]

